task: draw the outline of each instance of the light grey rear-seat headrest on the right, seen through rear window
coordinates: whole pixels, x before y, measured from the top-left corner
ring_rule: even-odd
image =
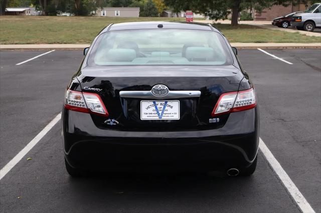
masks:
[[[185,57],[192,61],[213,60],[214,50],[211,47],[191,46],[186,48]]]

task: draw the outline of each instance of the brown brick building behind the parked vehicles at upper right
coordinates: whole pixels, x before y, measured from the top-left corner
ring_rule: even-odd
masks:
[[[288,6],[273,5],[270,8],[263,9],[262,12],[254,11],[254,20],[273,20],[276,17],[280,17],[291,12],[304,11],[306,9],[304,3],[293,4]]]

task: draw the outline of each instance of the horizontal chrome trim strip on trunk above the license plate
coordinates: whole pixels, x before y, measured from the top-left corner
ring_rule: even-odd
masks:
[[[199,97],[201,91],[198,90],[177,90],[169,91],[169,93],[162,97],[154,96],[151,91],[120,91],[120,97],[130,98],[148,98],[148,99],[172,99],[172,98],[184,98],[184,97]]]

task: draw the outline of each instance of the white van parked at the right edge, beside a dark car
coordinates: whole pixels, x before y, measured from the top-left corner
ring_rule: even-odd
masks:
[[[321,3],[314,3],[304,12],[293,15],[291,26],[305,31],[321,28]]]

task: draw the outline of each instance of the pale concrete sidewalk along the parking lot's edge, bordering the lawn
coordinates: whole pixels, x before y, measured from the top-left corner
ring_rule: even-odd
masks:
[[[253,48],[321,48],[320,43],[231,43],[243,49]],[[90,44],[2,44],[0,49],[83,49]]]

